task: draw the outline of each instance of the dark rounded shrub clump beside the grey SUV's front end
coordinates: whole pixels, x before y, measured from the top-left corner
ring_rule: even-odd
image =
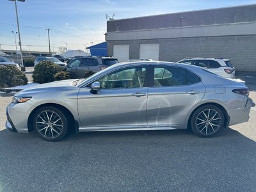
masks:
[[[41,61],[33,72],[34,83],[49,83],[52,81],[70,79],[71,74],[66,68],[54,64],[52,61]]]

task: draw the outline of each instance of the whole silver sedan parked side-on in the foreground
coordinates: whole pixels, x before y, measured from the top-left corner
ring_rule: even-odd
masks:
[[[68,129],[192,129],[212,137],[248,121],[249,90],[236,79],[178,63],[118,63],[88,79],[41,84],[14,95],[6,128],[58,141]]]

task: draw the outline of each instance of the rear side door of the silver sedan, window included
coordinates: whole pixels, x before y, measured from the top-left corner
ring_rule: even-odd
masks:
[[[205,94],[200,77],[183,67],[152,66],[148,88],[148,125],[182,125]]]

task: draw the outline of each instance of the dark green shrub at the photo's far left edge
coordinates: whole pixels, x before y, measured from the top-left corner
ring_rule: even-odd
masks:
[[[28,79],[19,68],[11,65],[0,65],[0,88],[25,85]]]

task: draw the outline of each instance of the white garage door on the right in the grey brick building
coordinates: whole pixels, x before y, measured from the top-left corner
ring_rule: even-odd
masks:
[[[140,44],[140,59],[159,60],[159,44]]]

